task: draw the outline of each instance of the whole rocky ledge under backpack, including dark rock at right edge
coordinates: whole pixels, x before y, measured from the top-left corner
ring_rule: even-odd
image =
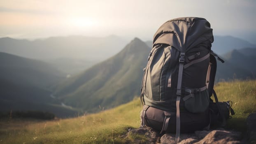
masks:
[[[159,132],[144,126],[143,128],[129,129],[123,137],[126,137],[127,143],[136,144],[256,144],[256,113],[248,116],[247,132],[244,135],[241,132],[218,128],[182,133],[180,141],[176,142],[175,134],[165,133],[164,135],[159,135]],[[133,140],[130,141],[129,137],[133,137]]]

